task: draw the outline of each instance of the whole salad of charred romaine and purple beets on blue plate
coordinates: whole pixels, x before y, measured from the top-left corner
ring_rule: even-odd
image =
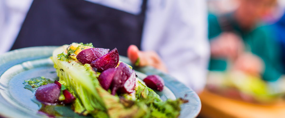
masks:
[[[72,43],[56,48],[51,59],[59,80],[38,77],[24,82],[44,106],[70,106],[81,116],[98,118],[176,118],[180,106],[188,102],[182,98],[162,101],[153,89],[162,91],[163,79],[149,75],[140,80],[132,66],[119,61],[116,48]]]

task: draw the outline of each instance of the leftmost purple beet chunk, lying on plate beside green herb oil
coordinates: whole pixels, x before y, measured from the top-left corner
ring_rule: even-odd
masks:
[[[40,86],[35,93],[36,99],[44,103],[58,103],[60,96],[60,87],[56,83],[49,83]]]

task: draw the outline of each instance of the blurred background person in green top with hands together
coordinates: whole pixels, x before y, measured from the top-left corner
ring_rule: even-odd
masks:
[[[283,74],[280,48],[274,41],[272,27],[261,22],[275,4],[276,0],[239,0],[239,7],[232,13],[210,14],[209,70],[238,69],[261,74],[267,81],[277,80]]]

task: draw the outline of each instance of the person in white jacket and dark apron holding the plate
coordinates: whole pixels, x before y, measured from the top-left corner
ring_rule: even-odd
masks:
[[[205,85],[204,0],[1,0],[0,12],[2,52],[92,42],[169,72],[197,92]]]

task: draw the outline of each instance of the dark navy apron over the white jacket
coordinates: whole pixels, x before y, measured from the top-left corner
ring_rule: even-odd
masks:
[[[34,0],[11,50],[92,42],[127,55],[129,45],[140,47],[145,11],[146,0],[138,15],[84,0]]]

